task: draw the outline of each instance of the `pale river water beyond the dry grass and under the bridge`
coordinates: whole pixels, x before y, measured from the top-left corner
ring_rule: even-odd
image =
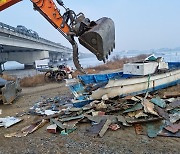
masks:
[[[164,60],[167,62],[168,61],[180,62],[180,51],[163,51],[163,52],[161,52],[161,51],[158,51],[158,52],[154,52],[154,51],[130,51],[130,52],[126,52],[126,51],[124,51],[124,52],[114,52],[113,55],[110,56],[110,59],[116,55],[118,57],[123,58],[123,57],[134,57],[134,56],[137,56],[140,54],[154,54],[157,57],[163,57]],[[66,61],[66,63],[69,66],[75,68],[72,61]],[[98,61],[95,56],[80,59],[80,63],[84,68],[89,67],[89,66],[96,66],[96,65],[103,64],[103,62]],[[7,74],[14,75],[14,76],[17,76],[20,78],[25,77],[25,76],[33,76],[35,74],[39,74],[39,72],[36,70],[24,70],[23,64],[20,64],[20,63],[14,62],[14,61],[6,62],[4,64],[4,69],[6,70],[5,72]]]

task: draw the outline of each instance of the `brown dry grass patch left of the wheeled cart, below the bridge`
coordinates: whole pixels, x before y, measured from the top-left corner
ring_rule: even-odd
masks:
[[[35,87],[45,84],[44,74],[38,74],[32,77],[24,77],[20,80],[21,87]]]

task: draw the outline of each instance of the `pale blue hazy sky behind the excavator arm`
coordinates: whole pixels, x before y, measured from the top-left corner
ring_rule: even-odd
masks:
[[[91,20],[103,16],[115,22],[116,50],[143,50],[180,46],[180,0],[64,0],[76,13]],[[33,29],[41,37],[70,44],[37,11],[23,0],[0,13],[0,21]],[[83,48],[80,48],[84,50]]]

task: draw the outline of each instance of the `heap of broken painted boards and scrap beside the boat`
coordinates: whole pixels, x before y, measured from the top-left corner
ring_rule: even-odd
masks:
[[[19,132],[6,134],[5,137],[26,136],[48,122],[47,132],[61,135],[68,135],[77,130],[78,125],[89,123],[86,133],[93,136],[103,137],[108,129],[123,131],[126,127],[134,127],[137,134],[149,137],[180,137],[179,97],[162,99],[149,94],[94,100],[84,105],[82,102],[62,103],[59,97],[55,97],[37,102],[30,108],[29,114],[39,115],[39,119]],[[9,117],[9,120],[13,120],[12,118]],[[1,118],[1,126],[3,121],[5,119]]]

